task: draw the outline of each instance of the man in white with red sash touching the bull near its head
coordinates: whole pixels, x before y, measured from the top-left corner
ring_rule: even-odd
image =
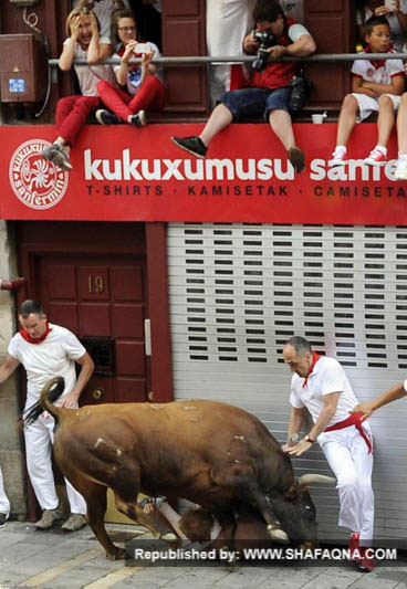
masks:
[[[334,358],[319,356],[303,337],[294,336],[283,348],[285,364],[293,372],[292,406],[283,450],[301,456],[317,442],[336,475],[340,494],[338,525],[351,529],[353,560],[364,571],[373,570],[372,546],[374,495],[372,490],[373,439],[344,369]],[[298,439],[305,410],[314,422],[307,435]]]

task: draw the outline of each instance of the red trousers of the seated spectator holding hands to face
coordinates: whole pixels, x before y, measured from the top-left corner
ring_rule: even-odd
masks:
[[[76,135],[80,133],[88,115],[102,106],[98,96],[66,96],[58,101],[55,124],[58,135],[67,145],[75,145]]]

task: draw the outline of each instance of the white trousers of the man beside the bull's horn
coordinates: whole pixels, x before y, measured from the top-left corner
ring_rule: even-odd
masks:
[[[373,441],[369,424],[363,427]],[[373,454],[355,425],[320,433],[317,442],[335,473],[340,494],[338,525],[361,534],[361,546],[372,546],[374,494],[372,488]]]

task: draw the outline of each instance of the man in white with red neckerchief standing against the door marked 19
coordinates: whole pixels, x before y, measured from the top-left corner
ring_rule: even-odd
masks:
[[[8,355],[0,366],[0,383],[22,364],[27,371],[27,410],[39,400],[46,382],[61,376],[65,381],[65,391],[60,406],[76,408],[80,395],[94,370],[91,356],[69,329],[48,323],[46,315],[36,301],[22,303],[19,320],[22,329],[11,338]],[[75,362],[81,366],[77,379]],[[43,509],[41,519],[35,524],[40,529],[51,527],[62,516],[51,460],[54,424],[54,419],[44,411],[35,423],[24,428],[27,469]],[[86,525],[86,504],[66,480],[65,483],[71,515],[62,529],[74,532]]]

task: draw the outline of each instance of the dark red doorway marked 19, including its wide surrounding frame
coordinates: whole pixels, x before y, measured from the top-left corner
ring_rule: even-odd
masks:
[[[51,323],[71,329],[94,358],[80,403],[171,401],[166,225],[22,221],[14,233],[27,278],[18,303],[40,299]],[[34,520],[30,485],[28,494]]]

